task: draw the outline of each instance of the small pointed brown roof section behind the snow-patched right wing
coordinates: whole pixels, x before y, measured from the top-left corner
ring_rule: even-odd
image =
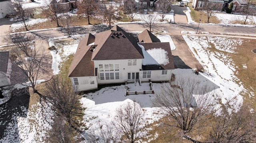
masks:
[[[152,42],[161,42],[154,34],[152,34],[148,29],[142,31],[139,35],[139,42],[152,43]]]

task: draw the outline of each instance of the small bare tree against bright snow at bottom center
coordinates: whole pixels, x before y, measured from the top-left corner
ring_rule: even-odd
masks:
[[[130,143],[138,141],[143,136],[144,114],[136,102],[128,103],[116,110],[114,125],[120,133],[127,137]]]

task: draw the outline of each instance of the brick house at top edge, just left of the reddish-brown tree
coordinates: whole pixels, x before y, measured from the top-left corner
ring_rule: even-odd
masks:
[[[51,4],[57,5],[59,4],[63,10],[70,10],[73,8],[77,8],[78,1],[77,0],[52,0]]]

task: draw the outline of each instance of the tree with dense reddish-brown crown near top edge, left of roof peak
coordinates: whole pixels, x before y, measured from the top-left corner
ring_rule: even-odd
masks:
[[[98,10],[98,3],[95,0],[82,0],[78,5],[79,16],[86,16],[88,19],[88,24],[90,24],[90,18],[95,16]]]

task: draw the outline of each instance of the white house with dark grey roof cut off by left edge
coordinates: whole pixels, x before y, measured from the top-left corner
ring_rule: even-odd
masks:
[[[9,51],[0,52],[0,87],[11,84],[12,63],[9,58]]]

